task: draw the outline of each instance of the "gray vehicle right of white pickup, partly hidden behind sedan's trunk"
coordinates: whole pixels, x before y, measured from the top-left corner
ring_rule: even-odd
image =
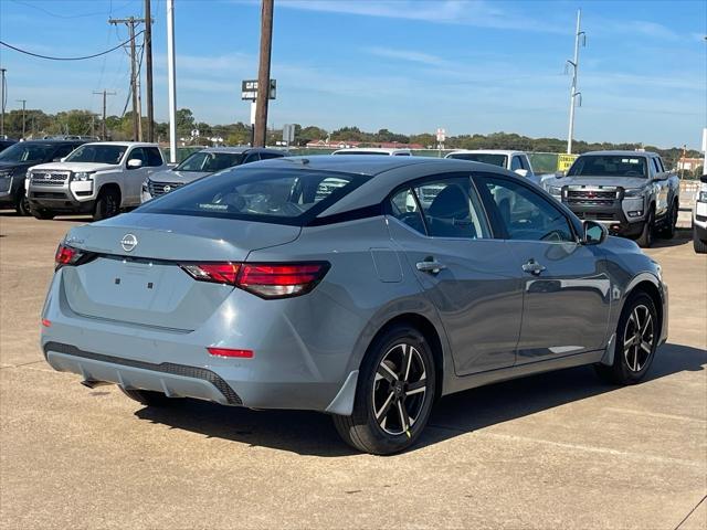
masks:
[[[189,182],[241,163],[282,158],[287,151],[257,147],[213,147],[192,152],[179,166],[152,173],[143,183],[143,202],[169,193]]]

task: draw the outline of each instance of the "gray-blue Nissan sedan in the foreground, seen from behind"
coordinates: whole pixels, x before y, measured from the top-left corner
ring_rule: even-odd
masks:
[[[580,364],[637,383],[668,320],[657,263],[526,179],[357,156],[239,166],[74,226],[41,319],[48,362],[86,386],[326,412],[376,454],[453,392]]]

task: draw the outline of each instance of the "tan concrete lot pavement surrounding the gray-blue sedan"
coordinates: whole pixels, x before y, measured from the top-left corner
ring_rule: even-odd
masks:
[[[50,369],[39,315],[74,222],[0,212],[0,528],[707,528],[707,256],[687,231],[647,251],[671,319],[643,384],[585,367],[455,394],[377,457],[323,414],[152,410]]]

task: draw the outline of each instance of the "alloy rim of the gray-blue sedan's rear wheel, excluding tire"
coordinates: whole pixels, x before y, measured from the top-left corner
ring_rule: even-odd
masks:
[[[372,407],[378,426],[399,436],[415,424],[428,394],[424,361],[418,349],[399,343],[383,356],[373,380]]]

